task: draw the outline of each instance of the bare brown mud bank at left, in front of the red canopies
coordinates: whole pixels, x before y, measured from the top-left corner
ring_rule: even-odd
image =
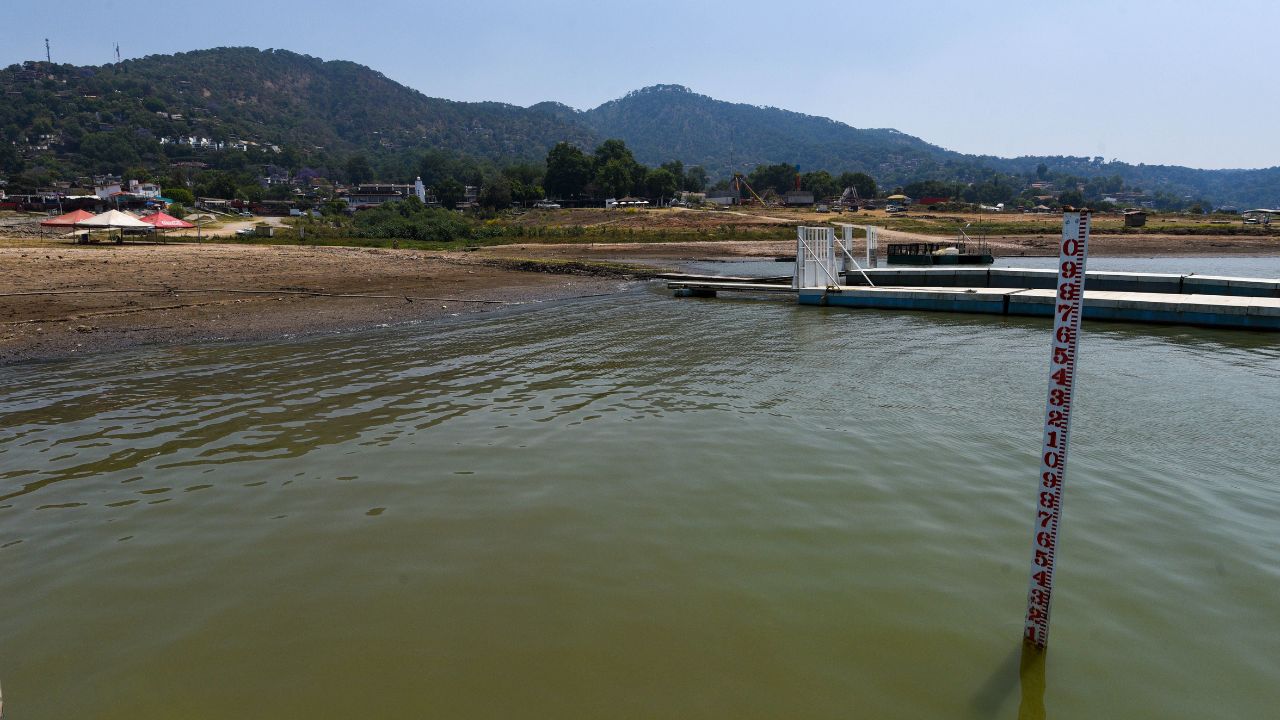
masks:
[[[0,364],[355,331],[634,286],[616,269],[348,247],[8,247],[0,266]]]

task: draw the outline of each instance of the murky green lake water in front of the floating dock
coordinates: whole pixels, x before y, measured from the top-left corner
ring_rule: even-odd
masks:
[[[652,286],[0,368],[6,710],[1015,717],[1047,341]],[[1079,383],[1029,703],[1270,716],[1280,341]]]

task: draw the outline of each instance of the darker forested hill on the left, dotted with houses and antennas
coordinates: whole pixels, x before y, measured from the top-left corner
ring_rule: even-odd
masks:
[[[161,138],[248,141],[303,156],[436,147],[511,160],[541,160],[564,140],[596,141],[559,113],[428,97],[364,65],[285,50],[219,47],[83,68],[31,63],[0,70],[0,86],[4,140],[49,136],[59,159],[91,172],[189,155]]]

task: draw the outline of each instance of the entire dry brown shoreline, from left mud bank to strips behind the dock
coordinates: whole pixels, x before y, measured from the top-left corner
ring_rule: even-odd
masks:
[[[938,238],[881,232],[882,242],[901,240]],[[997,255],[1036,256],[1052,254],[1056,238],[988,240]],[[584,277],[513,270],[498,263],[504,258],[678,268],[682,261],[764,259],[794,252],[792,240],[530,243],[476,252],[284,245],[77,246],[32,241],[29,246],[0,247],[5,281],[0,284],[0,365],[108,354],[140,345],[346,332],[613,293],[635,286],[635,279],[625,273]],[[1280,247],[1267,237],[1101,234],[1092,238],[1091,254],[1280,255]],[[209,292],[215,290],[251,292]],[[337,297],[343,295],[362,297]]]

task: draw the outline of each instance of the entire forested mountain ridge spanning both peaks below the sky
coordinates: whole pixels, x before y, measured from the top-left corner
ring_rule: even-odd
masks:
[[[219,47],[114,65],[27,63],[0,70],[0,172],[123,172],[200,158],[191,138],[250,143],[282,165],[330,165],[352,154],[443,150],[494,161],[541,160],[557,142],[621,138],[641,163],[682,160],[713,177],[758,164],[865,172],[882,186],[1030,176],[1041,163],[1079,177],[1120,176],[1149,192],[1240,208],[1280,205],[1280,168],[1201,170],[1071,156],[965,155],[895,129],[860,129],[777,108],[726,102],[678,85],[589,110],[429,97],[367,67],[287,50]],[[270,152],[266,147],[275,146]],[[388,167],[393,163],[388,161]],[[403,167],[411,167],[403,163]]]

